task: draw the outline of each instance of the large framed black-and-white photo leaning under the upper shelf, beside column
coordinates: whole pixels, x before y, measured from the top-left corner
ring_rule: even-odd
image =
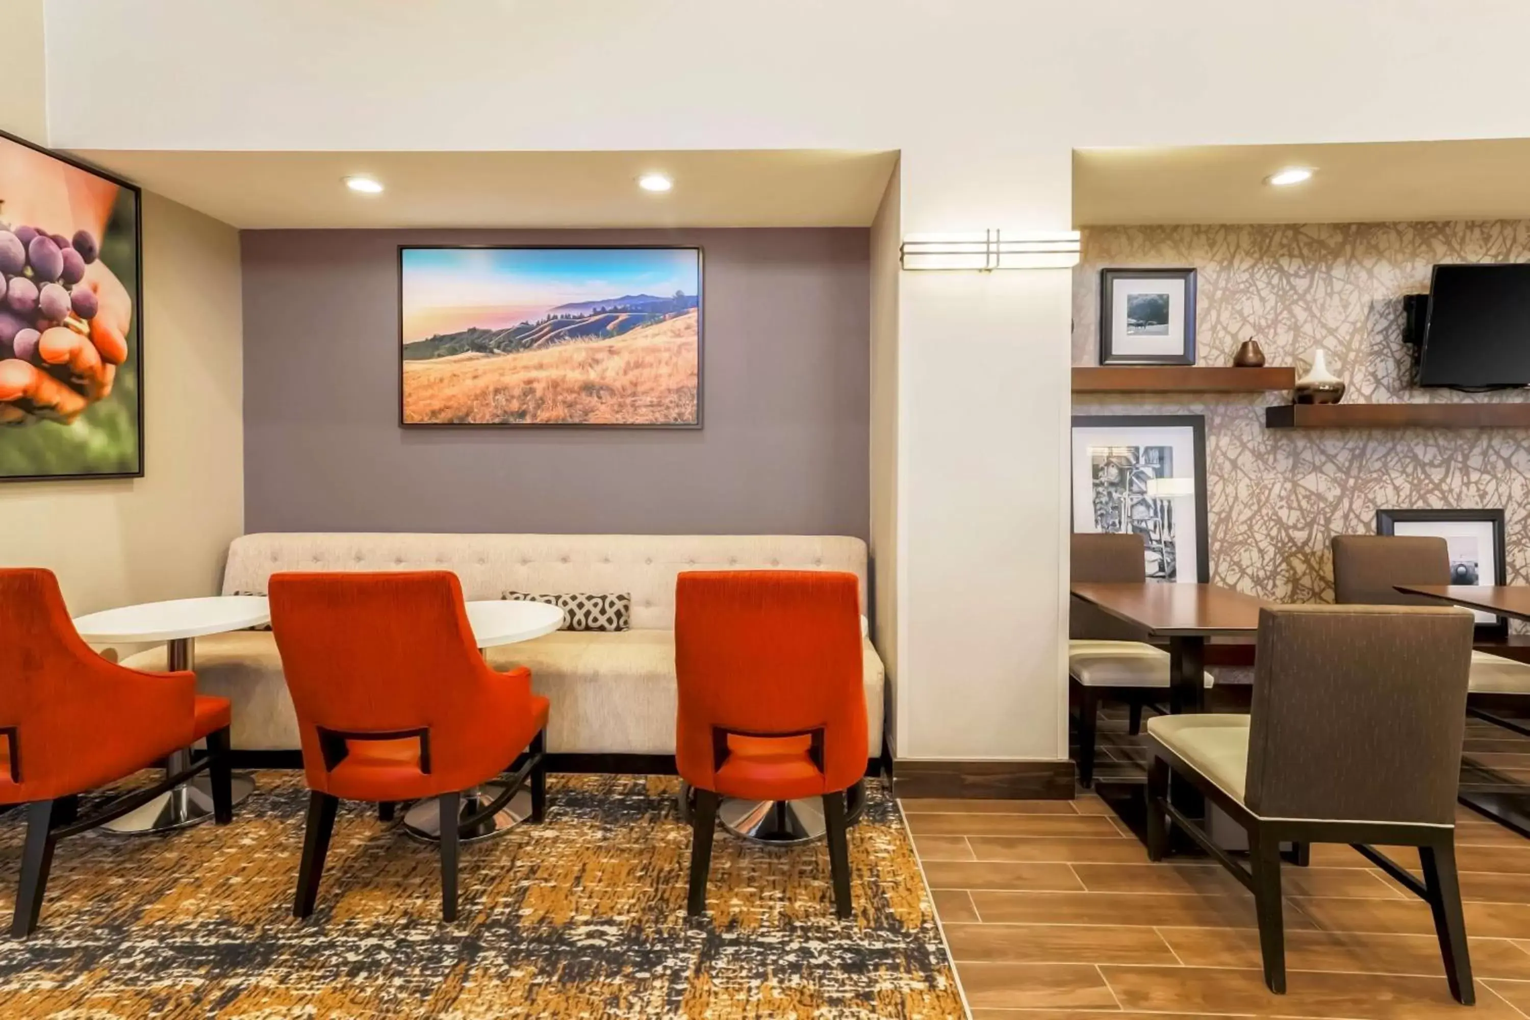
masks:
[[[1135,532],[1149,581],[1210,581],[1204,414],[1076,414],[1073,531]]]

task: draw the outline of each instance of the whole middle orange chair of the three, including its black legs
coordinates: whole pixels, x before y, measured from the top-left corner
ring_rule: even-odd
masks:
[[[546,809],[548,699],[522,667],[496,673],[473,642],[462,586],[445,570],[274,573],[271,629],[297,708],[308,833],[292,913],[314,913],[341,800],[441,803],[441,914],[457,916],[457,840],[531,783]],[[462,791],[528,751],[491,804],[461,817]],[[447,824],[457,818],[459,824]]]

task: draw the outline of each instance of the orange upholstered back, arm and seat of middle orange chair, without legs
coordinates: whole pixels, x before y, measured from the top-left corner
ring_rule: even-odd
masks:
[[[412,734],[387,742],[410,745],[409,768],[392,769],[409,774],[399,800],[480,783],[529,740],[505,749],[531,717],[529,687],[483,662],[454,573],[272,573],[269,596],[311,789],[363,797],[332,783],[332,734]],[[398,748],[376,743],[347,748],[398,759]]]

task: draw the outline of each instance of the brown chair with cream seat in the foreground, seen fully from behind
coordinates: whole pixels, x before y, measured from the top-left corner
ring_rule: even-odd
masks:
[[[1470,659],[1461,609],[1262,609],[1252,714],[1148,720],[1148,856],[1177,824],[1248,887],[1270,991],[1285,991],[1281,843],[1348,843],[1429,902],[1450,994],[1472,1003],[1455,873]],[[1169,804],[1170,771],[1244,827],[1247,869]],[[1375,846],[1418,847],[1423,881]]]

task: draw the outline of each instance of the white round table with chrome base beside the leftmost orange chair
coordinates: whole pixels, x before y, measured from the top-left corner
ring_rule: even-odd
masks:
[[[193,639],[245,630],[271,622],[271,607],[262,595],[214,595],[144,603],[90,613],[75,619],[75,630],[87,644],[165,642],[167,668],[174,673],[194,668]],[[191,749],[174,751],[167,772],[174,775],[191,765]],[[245,774],[234,775],[234,803],[256,789]],[[103,826],[109,832],[136,835],[194,826],[213,817],[213,791],[205,775],[161,794],[138,810]]]

